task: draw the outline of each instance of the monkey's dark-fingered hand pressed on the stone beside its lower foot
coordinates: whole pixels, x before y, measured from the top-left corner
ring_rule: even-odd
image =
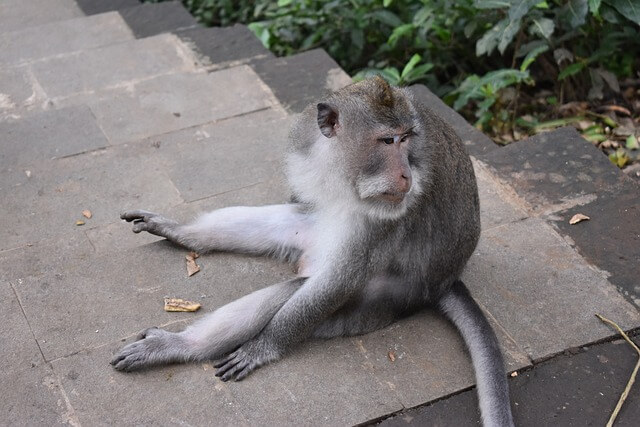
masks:
[[[280,359],[282,353],[259,335],[218,361],[214,365],[217,369],[216,377],[220,377],[222,381],[240,381],[260,366]]]

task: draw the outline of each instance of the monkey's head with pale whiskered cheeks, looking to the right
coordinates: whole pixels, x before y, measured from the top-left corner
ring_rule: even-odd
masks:
[[[308,107],[294,125],[288,159],[294,192],[311,203],[397,218],[421,192],[421,132],[405,90],[380,77],[347,86]]]

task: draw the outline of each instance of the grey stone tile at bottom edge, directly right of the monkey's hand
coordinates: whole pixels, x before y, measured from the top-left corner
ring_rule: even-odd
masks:
[[[304,342],[228,387],[251,425],[356,425],[402,408],[348,338]]]

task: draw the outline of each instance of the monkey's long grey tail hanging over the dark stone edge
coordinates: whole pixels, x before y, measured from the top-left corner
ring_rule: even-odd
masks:
[[[455,281],[438,305],[458,328],[471,353],[483,425],[513,426],[502,353],[489,321],[460,280]]]

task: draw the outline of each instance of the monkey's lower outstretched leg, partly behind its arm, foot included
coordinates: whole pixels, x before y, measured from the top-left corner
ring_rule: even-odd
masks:
[[[304,283],[296,278],[224,305],[182,332],[149,328],[111,360],[119,371],[223,356],[256,336]]]

